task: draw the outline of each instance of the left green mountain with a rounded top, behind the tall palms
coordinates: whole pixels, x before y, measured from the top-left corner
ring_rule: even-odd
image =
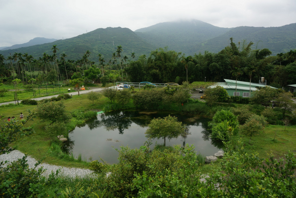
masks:
[[[106,62],[112,58],[112,53],[117,49],[117,46],[122,46],[121,56],[127,56],[131,59],[131,53],[135,52],[135,56],[147,54],[149,55],[155,46],[143,41],[132,30],[128,28],[99,28],[89,33],[84,33],[73,38],[57,40],[52,43],[22,47],[18,49],[10,49],[1,51],[4,57],[9,56],[9,53],[28,53],[35,59],[42,57],[43,53],[52,55],[52,46],[57,45],[57,57],[65,53],[66,59],[77,60],[83,57],[83,54],[89,50],[90,60],[98,62],[98,54],[102,54]]]

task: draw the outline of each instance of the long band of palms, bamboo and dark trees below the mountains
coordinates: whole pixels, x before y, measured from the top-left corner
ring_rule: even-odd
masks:
[[[0,54],[0,76],[2,82],[18,78],[32,84],[35,81],[64,83],[75,78],[83,78],[85,84],[116,81],[181,84],[184,81],[223,82],[223,79],[258,83],[260,77],[277,88],[296,83],[296,50],[270,56],[272,52],[268,49],[257,49],[257,46],[253,49],[253,45],[246,41],[235,44],[230,38],[229,46],[218,53],[205,51],[186,57],[181,52],[160,48],[137,60],[134,60],[135,52],[130,57],[122,57],[123,47],[117,46],[112,59],[105,60],[99,53],[95,61],[89,58],[89,50],[78,60],[66,60],[65,53],[58,58],[59,49],[54,45],[52,54],[44,53],[38,59],[27,53],[6,58]]]

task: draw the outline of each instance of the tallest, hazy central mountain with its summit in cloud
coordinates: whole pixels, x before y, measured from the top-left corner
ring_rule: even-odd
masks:
[[[200,20],[187,20],[158,23],[138,29],[135,33],[157,48],[168,46],[169,50],[194,54],[194,46],[229,30],[231,28],[219,28]]]

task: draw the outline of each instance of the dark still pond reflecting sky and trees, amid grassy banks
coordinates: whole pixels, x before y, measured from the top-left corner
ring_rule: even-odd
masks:
[[[106,112],[98,114],[96,118],[88,120],[83,126],[76,127],[69,133],[69,141],[66,150],[73,153],[77,158],[82,154],[82,159],[100,160],[102,158],[109,164],[118,162],[118,152],[121,146],[130,148],[140,148],[147,141],[145,131],[147,124],[154,117],[166,117],[169,113],[165,112],[144,112],[144,111],[120,111]],[[179,136],[176,139],[168,141],[166,146],[179,144],[194,144],[195,150],[204,156],[213,155],[219,149],[211,144],[209,131],[207,131],[207,122],[210,120],[198,116],[186,116],[174,114],[178,121],[186,124],[186,137]],[[155,144],[163,144],[163,139],[152,141],[150,148]]]

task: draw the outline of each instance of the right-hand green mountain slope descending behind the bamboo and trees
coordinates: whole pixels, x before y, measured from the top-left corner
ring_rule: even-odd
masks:
[[[246,43],[252,41],[254,43],[252,46],[254,49],[256,46],[257,49],[267,48],[273,55],[276,55],[296,48],[296,23],[270,28],[246,26],[232,28],[220,36],[197,44],[191,51],[201,53],[210,51],[217,53],[229,45],[229,38],[231,37],[236,44],[240,42],[240,45],[242,45],[244,40]]]

